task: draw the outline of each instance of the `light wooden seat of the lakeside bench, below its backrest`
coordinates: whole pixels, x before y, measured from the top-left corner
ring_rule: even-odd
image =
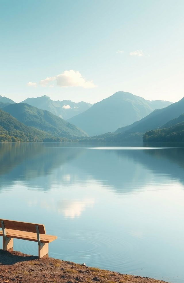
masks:
[[[0,231],[0,236],[3,236],[3,231]],[[22,240],[29,240],[37,242],[37,234],[32,232],[24,232],[19,230],[6,229],[6,236],[9,238],[16,238]],[[57,239],[57,236],[51,236],[46,234],[40,234],[40,240],[42,243],[50,243]]]

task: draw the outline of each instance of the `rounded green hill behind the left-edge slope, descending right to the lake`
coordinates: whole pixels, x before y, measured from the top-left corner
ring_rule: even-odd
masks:
[[[15,103],[3,108],[18,121],[57,137],[81,137],[87,134],[62,118],[34,106]]]

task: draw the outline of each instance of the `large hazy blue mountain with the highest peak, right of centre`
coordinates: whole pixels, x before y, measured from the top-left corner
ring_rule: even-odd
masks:
[[[160,108],[169,104],[171,102],[161,101]],[[158,105],[158,101],[152,102],[132,93],[118,91],[67,121],[94,136],[130,125],[150,114]]]

